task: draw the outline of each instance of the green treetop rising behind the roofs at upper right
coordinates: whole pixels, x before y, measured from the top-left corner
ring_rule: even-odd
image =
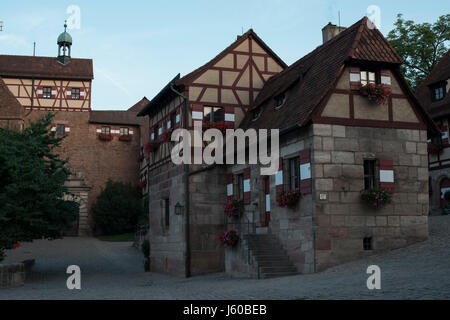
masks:
[[[434,24],[414,23],[399,14],[394,25],[387,39],[404,60],[402,72],[415,88],[448,51],[450,14],[440,16]]]

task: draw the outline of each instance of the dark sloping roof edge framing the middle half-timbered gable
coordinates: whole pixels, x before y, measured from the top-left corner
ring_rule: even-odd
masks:
[[[176,84],[177,85],[186,85],[189,84],[192,80],[195,80],[198,76],[200,76],[204,71],[209,69],[210,67],[214,66],[217,62],[219,62],[223,57],[225,57],[231,50],[238,47],[242,42],[244,42],[246,39],[251,37],[254,39],[260,46],[263,48],[267,53],[269,53],[277,63],[279,63],[283,69],[287,67],[287,64],[281,60],[281,58],[270,49],[270,47],[256,34],[256,32],[253,31],[253,29],[248,30],[246,33],[244,33],[242,36],[238,36],[237,40],[234,41],[232,44],[230,44],[228,47],[226,47],[221,53],[219,53],[214,59],[209,61],[208,63],[204,64],[200,68],[195,69],[194,71],[188,73],[181,79],[179,79]]]

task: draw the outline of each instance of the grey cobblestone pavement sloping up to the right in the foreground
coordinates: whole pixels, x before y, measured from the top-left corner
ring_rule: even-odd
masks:
[[[189,279],[144,273],[131,243],[65,238],[23,244],[5,262],[35,258],[25,286],[1,289],[0,299],[450,299],[450,216],[430,218],[430,238],[407,248],[324,272],[278,279]],[[79,265],[81,290],[66,288],[65,270]],[[369,265],[381,268],[381,290],[366,287]]]

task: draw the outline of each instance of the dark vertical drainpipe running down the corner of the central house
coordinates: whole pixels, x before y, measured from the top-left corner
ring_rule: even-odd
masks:
[[[185,97],[181,92],[175,90],[173,83],[170,84],[170,90],[172,90],[175,94],[184,99],[184,127],[186,130],[189,130],[189,99]],[[191,276],[191,239],[190,239],[190,217],[189,217],[189,204],[190,204],[190,195],[189,195],[189,164],[184,164],[184,195],[185,195],[185,210],[186,210],[186,278]]]

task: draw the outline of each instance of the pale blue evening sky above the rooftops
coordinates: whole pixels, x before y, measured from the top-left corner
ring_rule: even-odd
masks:
[[[376,6],[376,7],[374,7]],[[92,108],[126,110],[152,99],[175,75],[202,66],[253,30],[288,65],[322,43],[328,23],[348,27],[368,16],[386,36],[397,14],[433,23],[447,0],[3,0],[0,54],[57,56],[68,20],[72,57],[94,61]]]

